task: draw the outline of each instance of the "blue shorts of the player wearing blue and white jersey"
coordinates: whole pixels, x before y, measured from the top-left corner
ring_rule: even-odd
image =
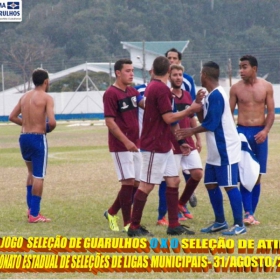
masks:
[[[206,163],[204,184],[218,184],[220,187],[235,187],[238,185],[238,163],[216,166]]]

